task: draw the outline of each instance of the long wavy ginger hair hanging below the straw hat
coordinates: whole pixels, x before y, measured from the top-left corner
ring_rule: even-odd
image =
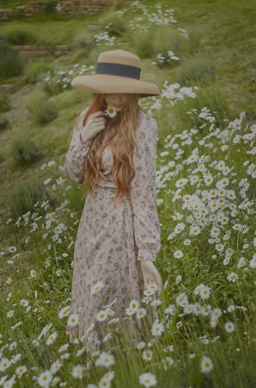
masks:
[[[117,112],[115,117],[104,116],[107,120],[106,127],[109,127],[108,138],[105,143],[102,143],[104,129],[92,138],[90,150],[87,154],[87,168],[84,172],[84,180],[87,185],[84,196],[88,192],[92,194],[95,181],[98,183],[100,181],[102,154],[108,144],[110,144],[110,149],[113,154],[111,173],[117,186],[114,206],[116,205],[117,199],[120,200],[128,193],[130,181],[135,176],[135,170],[132,165],[132,155],[135,146],[137,148],[136,152],[138,151],[136,142],[137,116],[139,109],[146,113],[138,104],[138,100],[139,94],[129,93],[124,109]],[[86,124],[89,115],[99,110],[105,111],[106,109],[107,103],[104,100],[104,93],[92,93],[92,102],[83,116],[82,127]],[[98,160],[99,168],[97,168],[96,160]]]

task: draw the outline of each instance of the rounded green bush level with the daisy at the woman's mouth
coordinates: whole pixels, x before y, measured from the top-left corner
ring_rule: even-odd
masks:
[[[27,109],[31,117],[38,124],[45,124],[57,117],[57,108],[49,100],[46,92],[38,90],[34,92],[28,103]]]

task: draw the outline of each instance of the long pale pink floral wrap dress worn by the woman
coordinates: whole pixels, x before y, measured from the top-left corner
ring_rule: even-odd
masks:
[[[65,176],[78,184],[84,182],[92,141],[82,143],[80,139],[85,112],[86,109],[79,116],[77,130],[74,128],[64,166]],[[103,142],[107,138],[106,129]],[[141,301],[145,297],[140,261],[155,261],[160,250],[160,224],[155,207],[157,124],[140,108],[137,145],[138,152],[133,155],[135,176],[127,197],[120,200],[116,208],[113,206],[116,184],[111,174],[113,155],[110,144],[104,149],[100,184],[96,182],[93,194],[87,194],[77,230],[70,314],[79,314],[79,325],[78,328],[67,325],[67,334],[73,343],[78,333],[90,352],[102,344],[101,328],[106,322],[99,322],[96,316],[106,306],[111,306],[115,312],[109,320],[118,317],[130,335],[131,317],[125,310],[131,300]],[[91,294],[91,287],[99,281],[103,282],[104,288]],[[152,300],[155,300],[155,295]],[[149,306],[140,302],[140,307],[144,307],[149,316]],[[156,307],[151,309],[152,316],[158,318]],[[138,327],[144,329],[143,319],[137,320]],[[91,325],[93,330],[87,330]],[[137,344],[138,338],[131,337],[131,341]]]

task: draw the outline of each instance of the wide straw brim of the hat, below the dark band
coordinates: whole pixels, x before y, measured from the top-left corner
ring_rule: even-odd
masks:
[[[94,93],[139,93],[139,97],[158,96],[157,85],[139,79],[110,74],[77,75],[71,85]]]

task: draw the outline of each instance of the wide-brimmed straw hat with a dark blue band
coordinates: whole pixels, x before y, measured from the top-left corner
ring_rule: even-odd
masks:
[[[154,83],[140,81],[141,60],[126,50],[100,53],[93,75],[78,75],[71,85],[95,93],[139,93],[139,97],[160,94]]]

